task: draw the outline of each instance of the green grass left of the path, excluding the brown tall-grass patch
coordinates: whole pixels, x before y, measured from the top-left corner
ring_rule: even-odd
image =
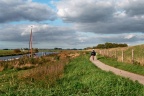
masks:
[[[71,60],[52,86],[43,80],[19,79],[23,72],[0,74],[0,96],[144,96],[143,85],[100,70],[88,55]]]

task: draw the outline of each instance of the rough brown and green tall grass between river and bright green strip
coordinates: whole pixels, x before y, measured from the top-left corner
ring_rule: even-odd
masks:
[[[38,66],[27,70],[4,70],[0,74],[0,96],[45,96],[47,88],[63,76],[73,53],[61,52],[40,58]]]

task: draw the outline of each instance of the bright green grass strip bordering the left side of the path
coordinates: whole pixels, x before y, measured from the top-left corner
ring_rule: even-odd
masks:
[[[53,96],[144,96],[144,86],[98,69],[83,55],[72,60],[51,89]]]

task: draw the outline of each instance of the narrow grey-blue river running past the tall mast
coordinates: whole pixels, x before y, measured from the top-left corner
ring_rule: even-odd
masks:
[[[36,53],[36,56],[40,57],[40,56],[44,56],[44,55],[48,55],[48,54],[52,54],[54,52],[38,52]],[[29,55],[29,54],[27,54]],[[12,59],[19,59],[20,57],[22,57],[23,55],[16,55],[16,56],[5,56],[5,57],[0,57],[0,60],[12,60]]]

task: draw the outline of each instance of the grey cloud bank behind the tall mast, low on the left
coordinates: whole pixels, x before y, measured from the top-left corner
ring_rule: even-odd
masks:
[[[0,28],[0,41],[28,43],[31,25],[4,25]],[[33,43],[50,45],[77,45],[81,41],[75,30],[69,27],[56,27],[47,24],[35,24],[32,28]]]

